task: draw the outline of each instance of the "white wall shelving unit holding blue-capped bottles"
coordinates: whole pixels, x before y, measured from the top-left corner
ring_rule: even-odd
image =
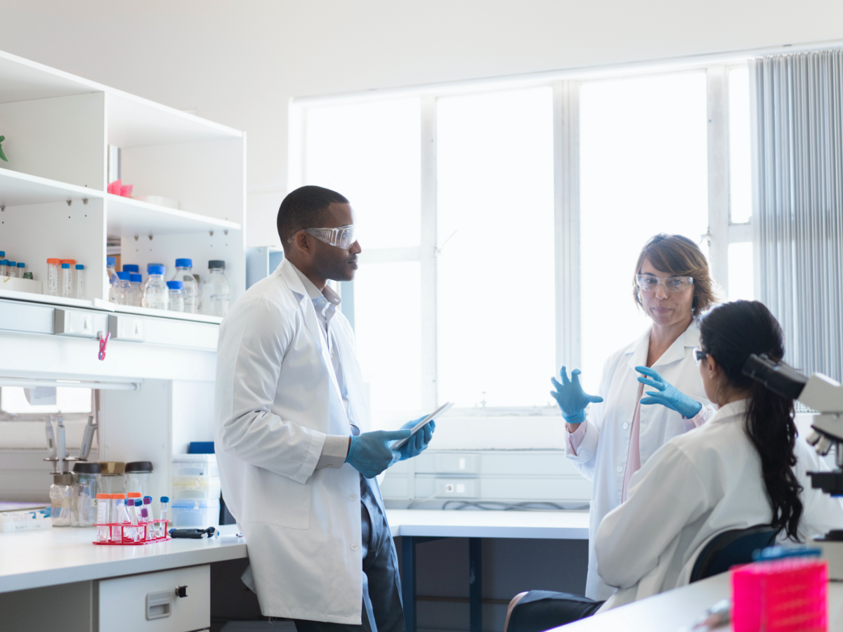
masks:
[[[0,250],[46,281],[48,257],[85,265],[78,307],[108,299],[108,236],[121,263],[189,257],[200,282],[207,262],[226,262],[234,301],[245,290],[245,135],[132,94],[0,51]],[[121,179],[133,195],[161,195],[180,208],[106,193],[108,147],[121,148]],[[24,292],[0,297],[20,300]],[[38,303],[68,304],[31,295]],[[117,308],[117,311],[133,311]],[[182,318],[153,312],[157,316]],[[192,320],[194,318],[188,318]],[[219,319],[197,317],[201,322]]]

